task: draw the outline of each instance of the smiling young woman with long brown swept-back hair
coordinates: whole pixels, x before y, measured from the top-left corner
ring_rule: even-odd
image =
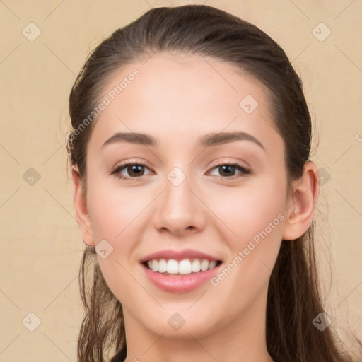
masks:
[[[69,112],[79,361],[351,361],[317,287],[310,114],[274,40],[153,8],[94,50]]]

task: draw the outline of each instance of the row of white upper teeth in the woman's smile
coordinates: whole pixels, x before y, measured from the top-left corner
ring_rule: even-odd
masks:
[[[169,274],[190,274],[191,272],[198,273],[199,271],[206,271],[216,267],[216,260],[207,259],[183,259],[177,262],[175,259],[159,259],[148,260],[148,267],[152,271],[158,271],[158,273]]]

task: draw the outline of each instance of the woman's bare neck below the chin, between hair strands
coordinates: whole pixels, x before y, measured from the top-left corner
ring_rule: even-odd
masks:
[[[266,343],[265,303],[256,304],[223,327],[212,327],[209,334],[184,331],[178,338],[145,329],[124,310],[125,362],[272,362]]]

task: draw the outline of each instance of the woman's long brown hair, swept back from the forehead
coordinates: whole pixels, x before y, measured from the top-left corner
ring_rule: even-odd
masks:
[[[303,175],[310,157],[311,120],[302,83],[286,54],[255,25],[211,6],[153,8],[107,37],[88,57],[69,97],[76,129],[91,114],[103,86],[120,67],[155,52],[213,57],[250,74],[267,88],[274,126],[285,145],[288,182]],[[94,122],[93,122],[94,123]],[[86,192],[86,146],[94,124],[67,139],[72,165]],[[313,245],[314,223],[298,240],[281,243],[267,297],[267,349],[276,362],[346,362],[328,327],[312,323],[323,311]],[[87,273],[93,286],[88,290]],[[93,273],[93,274],[92,274]],[[125,349],[122,305],[107,287],[94,247],[86,247],[80,271],[86,317],[78,339],[80,362],[103,362],[109,351]]]

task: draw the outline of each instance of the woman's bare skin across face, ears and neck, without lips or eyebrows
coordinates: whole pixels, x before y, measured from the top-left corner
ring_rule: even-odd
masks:
[[[317,168],[306,163],[288,193],[284,141],[265,89],[233,67],[205,59],[161,53],[119,69],[102,97],[134,68],[140,75],[96,119],[87,146],[86,195],[76,166],[72,170],[84,242],[105,239],[113,247],[98,262],[122,303],[127,362],[271,361],[264,332],[271,269],[281,240],[300,237],[313,219]],[[239,106],[245,95],[259,103],[250,115]],[[248,140],[197,146],[204,134],[236,131],[251,134],[264,149]],[[151,134],[158,146],[103,147],[115,132]],[[146,163],[138,180],[133,174],[124,180],[132,177],[127,169],[122,177],[111,175],[127,160]],[[223,173],[216,165],[226,162],[251,173]],[[167,178],[176,166],[186,175],[178,186]],[[229,180],[233,175],[239,177]],[[279,214],[284,220],[217,286],[165,292],[139,264],[151,252],[191,248],[227,265]],[[177,331],[167,322],[174,313],[185,320]]]

